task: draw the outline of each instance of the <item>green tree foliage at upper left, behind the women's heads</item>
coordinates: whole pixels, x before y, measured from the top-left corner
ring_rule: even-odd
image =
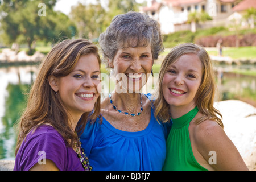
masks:
[[[106,8],[100,0],[94,4],[82,4],[72,8],[69,16],[54,11],[57,0],[5,0],[0,1],[0,37],[8,46],[27,44],[33,53],[35,41],[56,43],[65,38],[80,37],[97,43],[98,36],[109,26],[115,15],[138,11],[135,0],[109,0]],[[45,16],[42,12],[43,2]]]

